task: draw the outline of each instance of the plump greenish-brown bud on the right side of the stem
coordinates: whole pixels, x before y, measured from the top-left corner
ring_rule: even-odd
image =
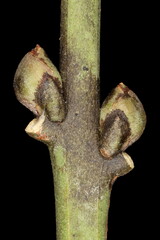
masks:
[[[100,152],[106,158],[125,151],[143,133],[144,108],[135,95],[120,83],[104,101],[100,111]]]

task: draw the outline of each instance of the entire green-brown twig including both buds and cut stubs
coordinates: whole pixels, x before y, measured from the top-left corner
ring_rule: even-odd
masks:
[[[50,151],[57,240],[106,240],[113,182],[134,167],[124,150],[142,134],[138,97],[120,83],[99,106],[100,0],[61,1],[60,74],[37,45],[18,66],[26,132]]]

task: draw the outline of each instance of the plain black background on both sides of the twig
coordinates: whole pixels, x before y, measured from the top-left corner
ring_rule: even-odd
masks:
[[[119,178],[112,190],[108,240],[156,236],[160,136],[157,9],[154,2],[102,0],[101,103],[123,81],[138,95],[147,114],[143,136],[127,150],[135,169]],[[59,66],[59,20],[58,0],[1,4],[2,239],[56,239],[48,150],[24,132],[33,114],[16,100],[12,82],[21,58],[37,43]]]

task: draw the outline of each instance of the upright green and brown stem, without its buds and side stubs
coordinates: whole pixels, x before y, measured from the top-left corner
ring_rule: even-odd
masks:
[[[66,131],[63,134],[67,136],[63,139],[70,149],[63,144],[56,148],[58,152],[55,148],[51,151],[57,240],[105,240],[107,234],[108,185],[99,193],[102,168],[98,155],[100,3],[100,0],[61,1],[61,77],[68,109],[63,127]],[[94,157],[86,142],[93,145]],[[98,164],[87,162],[94,158],[100,158]],[[65,162],[63,167],[58,167],[59,162]],[[93,173],[88,174],[92,169]]]

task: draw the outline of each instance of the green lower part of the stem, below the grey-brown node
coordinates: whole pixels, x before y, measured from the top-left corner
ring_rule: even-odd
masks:
[[[61,146],[51,147],[50,154],[55,186],[57,240],[106,240],[111,189],[107,187],[100,196],[79,200],[72,194],[73,179],[69,179],[66,167],[66,150]]]

